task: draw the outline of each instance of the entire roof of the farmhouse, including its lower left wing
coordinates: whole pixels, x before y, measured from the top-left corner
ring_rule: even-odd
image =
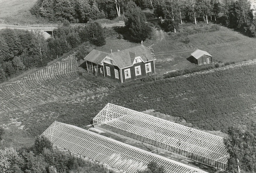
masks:
[[[140,45],[133,48],[121,50],[113,53],[106,53],[99,50],[93,49],[84,60],[100,63],[105,57],[111,57],[116,63],[119,69],[130,67],[133,65],[135,57],[140,56],[142,61],[148,62],[154,60],[154,56],[151,54],[151,51],[146,46]]]

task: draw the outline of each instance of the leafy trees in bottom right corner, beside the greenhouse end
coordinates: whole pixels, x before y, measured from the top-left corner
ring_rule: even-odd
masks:
[[[256,132],[255,123],[249,123],[247,130],[229,127],[229,137],[224,139],[230,155],[227,171],[238,173],[256,171]],[[240,169],[240,170],[239,170]]]

